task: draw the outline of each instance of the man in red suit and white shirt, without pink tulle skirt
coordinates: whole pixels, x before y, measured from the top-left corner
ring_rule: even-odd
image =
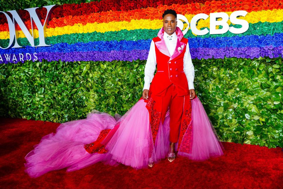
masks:
[[[160,121],[163,123],[167,109],[170,109],[170,149],[168,160],[175,159],[175,143],[181,141],[188,124],[183,112],[191,109],[190,100],[195,98],[194,66],[192,64],[188,40],[177,27],[177,14],[166,10],[162,15],[163,27],[150,45],[144,69],[142,98],[148,101],[151,130],[155,140]],[[154,71],[157,65],[157,73]],[[151,84],[150,84],[151,83]],[[186,114],[190,117],[190,113]],[[190,118],[187,118],[190,120]],[[180,137],[180,139],[179,139]],[[179,145],[180,146],[180,145]],[[149,166],[152,167],[153,164]]]

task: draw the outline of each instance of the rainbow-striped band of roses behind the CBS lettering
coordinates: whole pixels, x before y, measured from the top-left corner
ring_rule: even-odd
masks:
[[[106,6],[107,5],[107,6]],[[23,32],[21,43],[26,47],[0,50],[0,54],[37,53],[39,61],[113,61],[146,60],[151,39],[162,27],[162,13],[174,9],[190,22],[199,13],[237,10],[248,14],[242,19],[249,29],[239,35],[226,32],[222,35],[195,36],[189,30],[192,58],[277,58],[283,54],[283,1],[100,1],[84,4],[64,4],[53,11],[47,26],[47,41],[52,46],[29,46]],[[46,9],[39,11],[46,16]],[[20,11],[26,25],[31,28],[29,13]],[[9,43],[8,24],[1,14],[0,39],[3,46]],[[231,25],[231,22],[228,24]],[[186,27],[187,25],[185,25]],[[199,29],[209,28],[209,19],[198,22]],[[18,28],[18,30],[21,30]],[[38,32],[35,31],[36,37]],[[17,62],[3,58],[3,62]],[[25,57],[27,58],[27,57]],[[36,60],[35,59],[35,60]],[[25,60],[25,59],[24,59]]]

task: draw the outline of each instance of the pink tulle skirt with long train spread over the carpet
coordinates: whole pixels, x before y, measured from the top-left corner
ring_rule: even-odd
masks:
[[[122,163],[136,169],[146,168],[149,162],[157,163],[167,157],[169,150],[169,112],[164,122],[160,123],[153,143],[146,104],[144,100],[139,100],[122,117],[92,112],[86,119],[62,123],[56,133],[44,136],[27,154],[25,171],[30,177],[39,177],[52,170],[67,168],[67,171],[75,171],[97,162],[110,165]],[[85,144],[95,141],[102,130],[113,129],[117,123],[119,128],[105,144],[106,153],[90,154],[85,150]],[[190,153],[179,151],[178,156],[203,161],[223,155],[223,146],[198,98],[192,100],[190,124]]]

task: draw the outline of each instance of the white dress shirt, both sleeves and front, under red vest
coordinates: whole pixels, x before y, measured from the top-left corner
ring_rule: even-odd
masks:
[[[169,36],[169,37],[167,37]],[[172,36],[172,37],[171,37]],[[164,41],[166,44],[166,47],[172,56],[174,53],[174,50],[176,48],[177,44],[177,35],[176,32],[174,32],[172,35],[168,35],[166,32],[164,32]],[[169,38],[172,38],[172,40],[169,40]],[[188,87],[189,89],[195,89],[194,88],[194,78],[195,78],[195,68],[194,65],[192,64],[192,58],[190,54],[190,49],[189,49],[189,44],[187,43],[186,45],[186,51],[184,54],[184,73],[187,77],[188,81]],[[150,44],[150,49],[147,57],[147,63],[145,64],[144,68],[144,89],[149,89],[150,83],[152,82],[153,76],[154,76],[154,71],[156,69],[156,54],[155,54],[155,45],[154,41],[151,41]]]

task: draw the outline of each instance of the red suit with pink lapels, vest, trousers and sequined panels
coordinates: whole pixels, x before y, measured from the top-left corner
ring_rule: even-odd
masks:
[[[153,38],[157,72],[149,88],[147,109],[151,117],[153,139],[156,137],[160,120],[163,123],[167,110],[170,109],[170,141],[175,143],[179,139],[179,133],[180,139],[183,138],[191,119],[190,91],[183,70],[188,39],[183,37],[182,31],[177,27],[177,45],[175,52],[170,56],[164,40],[160,38],[162,33],[163,28],[159,31],[159,36]]]

